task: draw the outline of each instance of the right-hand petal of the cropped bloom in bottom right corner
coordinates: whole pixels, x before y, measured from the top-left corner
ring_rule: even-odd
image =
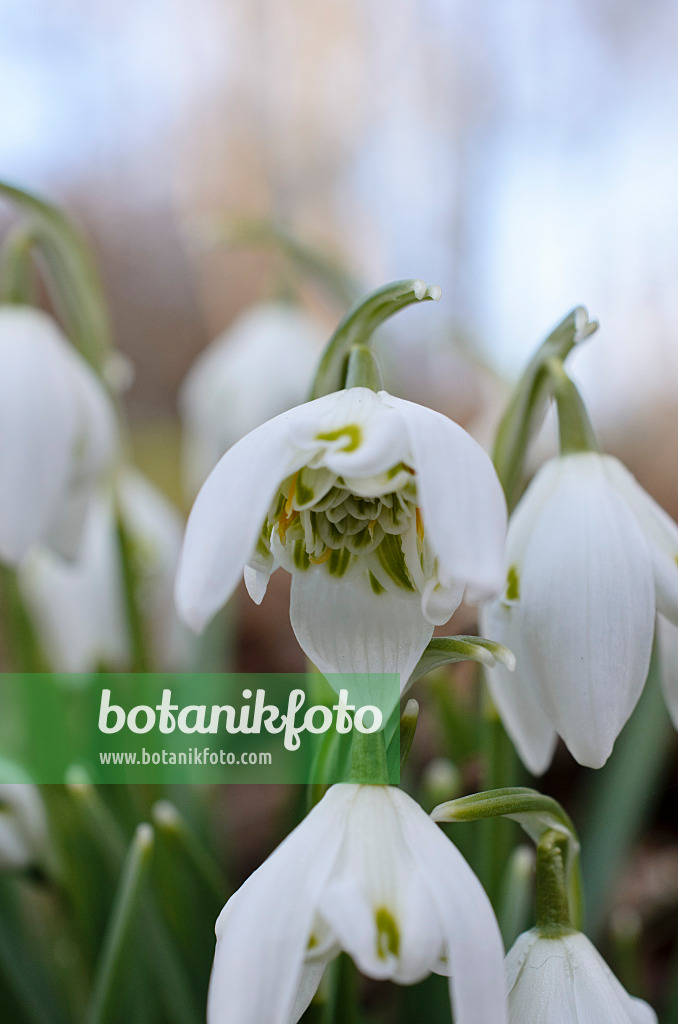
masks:
[[[561,942],[569,961],[578,1024],[655,1024],[651,1007],[629,995],[586,935],[576,932]]]

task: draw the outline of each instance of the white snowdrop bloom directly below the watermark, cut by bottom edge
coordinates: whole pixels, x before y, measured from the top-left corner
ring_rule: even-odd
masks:
[[[208,1024],[292,1024],[340,950],[371,978],[450,977],[460,1024],[503,1024],[503,946],[480,883],[400,790],[334,785],[216,925]]]

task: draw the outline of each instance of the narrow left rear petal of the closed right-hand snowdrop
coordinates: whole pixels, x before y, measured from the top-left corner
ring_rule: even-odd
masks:
[[[509,672],[497,664],[485,669],[485,679],[504,727],[533,775],[541,775],[551,764],[557,733],[537,697],[539,680],[528,678],[520,647],[520,612],[515,605],[494,601],[480,612],[480,633],[497,640],[515,654],[516,666]]]

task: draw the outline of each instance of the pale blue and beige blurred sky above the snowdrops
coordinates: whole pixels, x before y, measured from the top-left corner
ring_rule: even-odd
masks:
[[[132,348],[171,293],[195,354],[225,312],[192,225],[272,211],[368,287],[439,284],[400,331],[454,324],[510,376],[587,305],[577,374],[616,417],[678,385],[676,53],[675,0],[5,0],[0,174],[118,240]]]

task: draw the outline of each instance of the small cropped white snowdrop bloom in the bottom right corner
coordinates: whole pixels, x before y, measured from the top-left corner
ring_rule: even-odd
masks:
[[[518,936],[506,957],[510,1024],[656,1024],[581,932]]]

